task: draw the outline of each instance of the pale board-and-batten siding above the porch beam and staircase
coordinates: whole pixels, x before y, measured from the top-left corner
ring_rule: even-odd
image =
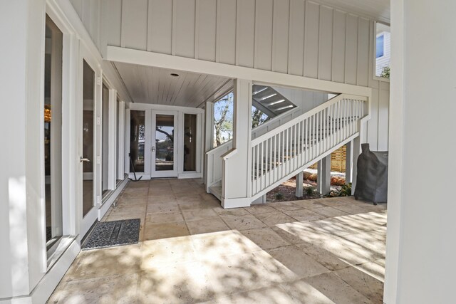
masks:
[[[110,0],[105,10],[109,46],[371,87],[368,141],[387,149],[389,83],[373,79],[373,20],[303,0]]]

